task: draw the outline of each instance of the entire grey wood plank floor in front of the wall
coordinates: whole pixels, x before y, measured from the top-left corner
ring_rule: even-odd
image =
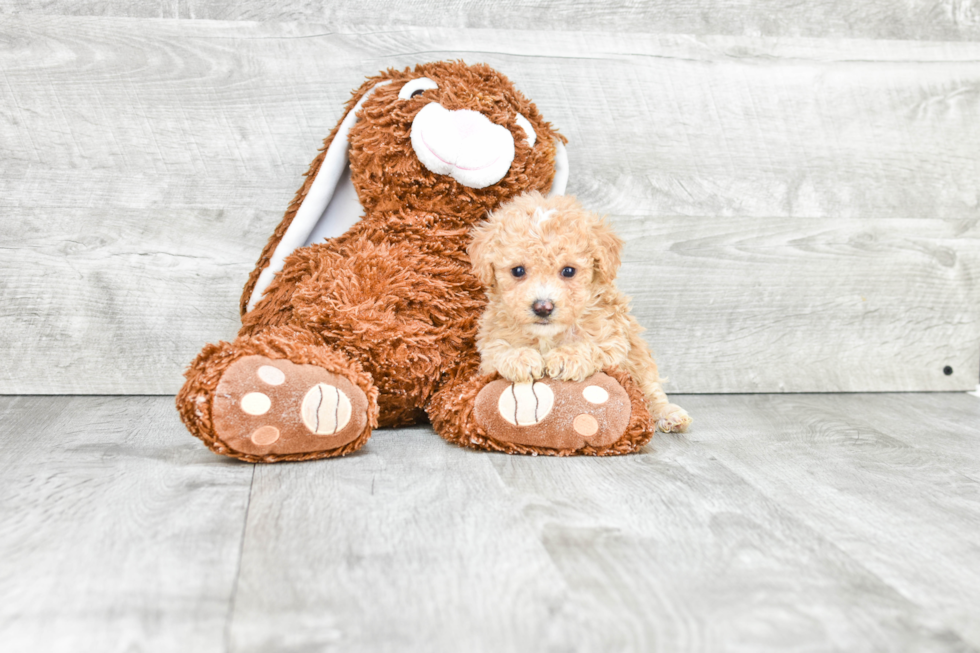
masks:
[[[0,650],[980,650],[980,399],[678,400],[618,459],[252,466],[168,397],[2,397]]]

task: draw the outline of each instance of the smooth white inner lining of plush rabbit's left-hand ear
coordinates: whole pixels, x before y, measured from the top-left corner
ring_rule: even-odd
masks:
[[[282,270],[287,256],[300,247],[343,234],[364,215],[364,208],[350,181],[347,138],[351,127],[357,122],[357,111],[364,101],[371,97],[377,88],[390,83],[391,80],[388,80],[373,86],[344,116],[340,129],[330,142],[320,169],[313,183],[310,184],[310,190],[303,198],[303,203],[296,211],[282,240],[276,245],[269,259],[269,265],[259,274],[255,288],[252,289],[252,296],[248,299],[246,311],[255,308],[255,304],[262,298],[276,273]]]

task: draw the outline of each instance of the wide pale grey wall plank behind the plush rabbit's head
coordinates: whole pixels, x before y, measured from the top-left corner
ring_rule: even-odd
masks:
[[[970,219],[980,201],[977,43],[2,26],[3,206],[281,211],[366,74],[451,57],[535,99],[571,139],[570,192],[603,211]]]

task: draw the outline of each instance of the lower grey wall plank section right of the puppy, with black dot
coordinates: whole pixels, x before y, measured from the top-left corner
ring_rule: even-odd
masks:
[[[975,221],[614,216],[613,224],[627,241],[618,283],[671,379],[668,393],[975,385]]]

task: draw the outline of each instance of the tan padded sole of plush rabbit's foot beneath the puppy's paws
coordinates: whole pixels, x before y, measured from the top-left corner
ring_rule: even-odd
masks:
[[[572,454],[620,440],[632,406],[623,387],[598,372],[580,382],[497,379],[480,391],[473,410],[477,424],[494,440]]]

